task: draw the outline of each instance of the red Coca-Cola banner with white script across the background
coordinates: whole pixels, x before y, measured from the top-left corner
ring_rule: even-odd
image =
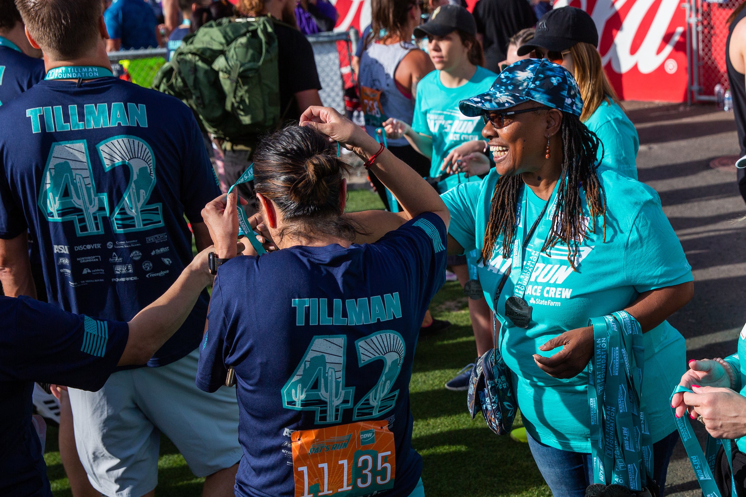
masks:
[[[336,0],[336,30],[365,28],[371,0]],[[475,0],[469,2],[473,7]],[[600,34],[598,50],[624,100],[686,100],[685,11],[681,0],[557,0],[588,12]]]

